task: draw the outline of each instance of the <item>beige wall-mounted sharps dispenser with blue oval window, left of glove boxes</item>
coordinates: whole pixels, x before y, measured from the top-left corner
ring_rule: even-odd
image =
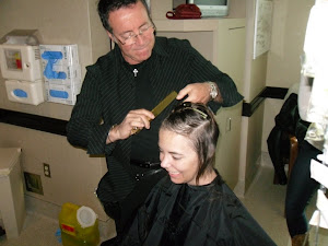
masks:
[[[39,39],[37,30],[14,30],[0,39],[1,73],[12,102],[45,102]]]

